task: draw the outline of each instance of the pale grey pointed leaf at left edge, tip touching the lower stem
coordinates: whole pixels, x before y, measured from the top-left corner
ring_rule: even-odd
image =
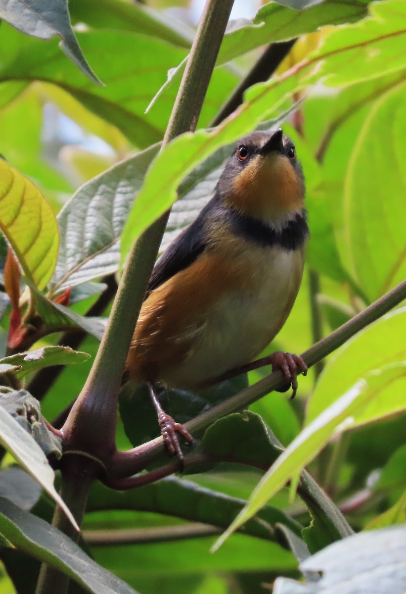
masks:
[[[78,529],[71,511],[69,511],[64,501],[62,501],[61,497],[55,491],[55,487],[53,486],[55,476],[45,454],[36,441],[34,441],[34,438],[2,406],[0,406],[0,441],[12,453],[17,462],[39,482],[42,488],[65,511],[72,525]]]

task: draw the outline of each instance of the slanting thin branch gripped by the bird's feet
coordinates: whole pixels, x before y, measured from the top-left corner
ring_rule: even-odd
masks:
[[[388,293],[385,293],[380,299],[373,302],[373,304],[351,318],[351,320],[342,324],[340,328],[334,330],[329,336],[319,340],[318,343],[302,353],[302,358],[306,362],[306,365],[310,368],[318,361],[321,361],[324,357],[338,349],[338,347],[344,345],[354,334],[368,326],[368,324],[378,320],[378,318],[382,317],[382,315],[386,314],[405,298],[406,280]],[[245,409],[248,405],[269,394],[272,390],[282,388],[285,384],[286,379],[283,373],[280,370],[274,371],[267,375],[267,377],[259,380],[256,384],[253,384],[253,386],[249,386],[235,396],[231,396],[228,400],[224,400],[224,402],[192,419],[185,426],[192,434],[202,432],[221,417]],[[143,470],[154,460],[157,460],[163,454],[163,451],[163,439],[157,437],[132,450],[116,451],[109,461],[107,470],[112,476],[131,476]]]

